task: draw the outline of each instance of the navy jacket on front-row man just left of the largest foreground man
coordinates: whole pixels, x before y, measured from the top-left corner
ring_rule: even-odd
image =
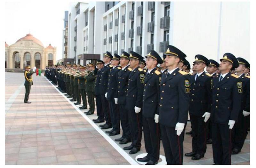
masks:
[[[162,73],[156,68],[150,74],[146,73],[143,92],[142,115],[153,118],[159,114],[160,82]]]

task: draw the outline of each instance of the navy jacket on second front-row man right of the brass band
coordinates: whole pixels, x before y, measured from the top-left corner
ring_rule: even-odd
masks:
[[[100,72],[100,83],[99,83],[100,94],[105,94],[107,92],[108,75],[109,75],[110,69],[112,68],[113,66],[109,63],[107,66],[104,66]]]

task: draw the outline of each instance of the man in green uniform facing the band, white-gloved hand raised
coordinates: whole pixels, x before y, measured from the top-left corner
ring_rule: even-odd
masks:
[[[28,101],[28,98],[29,98],[31,85],[33,85],[32,75],[35,71],[36,71],[36,67],[34,67],[33,69],[30,69],[30,65],[25,67],[25,71],[24,71],[25,83],[24,83],[24,86],[25,86],[25,89],[26,89],[26,93],[25,93],[24,103],[31,103],[30,101]]]

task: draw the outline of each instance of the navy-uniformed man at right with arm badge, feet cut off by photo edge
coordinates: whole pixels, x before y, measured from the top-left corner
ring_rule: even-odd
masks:
[[[230,71],[238,67],[236,57],[225,53],[220,59],[221,74],[213,77],[212,150],[215,164],[231,164],[232,128],[241,108],[243,84]]]

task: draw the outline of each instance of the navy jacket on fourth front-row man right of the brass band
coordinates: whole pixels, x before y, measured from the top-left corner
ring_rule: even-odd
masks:
[[[128,87],[128,78],[132,71],[132,68],[127,66],[124,70],[120,70],[118,73],[118,88],[115,98],[118,98],[118,104],[125,104],[126,92]]]

